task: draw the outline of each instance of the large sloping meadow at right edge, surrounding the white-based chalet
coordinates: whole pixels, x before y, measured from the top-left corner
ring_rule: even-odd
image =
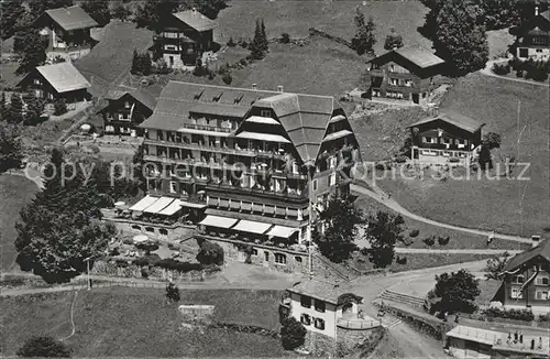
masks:
[[[525,176],[515,181],[485,176],[459,180],[383,180],[378,185],[408,210],[442,222],[530,236],[550,228],[550,156],[548,148],[548,88],[472,74],[450,90],[441,112],[460,111],[486,123],[485,132],[502,135],[494,151],[496,164],[506,154],[528,163]],[[521,101],[519,129],[518,100]],[[517,139],[521,132],[518,154]],[[503,166],[504,168],[504,166]],[[504,170],[503,170],[504,171]],[[513,175],[522,170],[518,166]],[[520,216],[520,210],[522,216]]]

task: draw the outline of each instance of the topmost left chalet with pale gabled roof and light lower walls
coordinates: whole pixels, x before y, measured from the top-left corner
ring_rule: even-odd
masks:
[[[34,25],[48,39],[48,57],[78,58],[88,54],[96,44],[90,30],[98,23],[78,6],[46,10]]]

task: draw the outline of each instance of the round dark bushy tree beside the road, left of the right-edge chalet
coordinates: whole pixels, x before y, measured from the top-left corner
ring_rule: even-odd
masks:
[[[466,270],[436,275],[433,293],[441,300],[436,304],[442,313],[472,313],[476,305],[474,300],[480,295],[479,281]]]

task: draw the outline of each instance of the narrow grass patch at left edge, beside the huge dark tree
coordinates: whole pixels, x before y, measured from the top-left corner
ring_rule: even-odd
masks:
[[[15,221],[19,211],[34,198],[37,188],[34,182],[21,176],[0,175],[0,269],[2,272],[16,266]]]

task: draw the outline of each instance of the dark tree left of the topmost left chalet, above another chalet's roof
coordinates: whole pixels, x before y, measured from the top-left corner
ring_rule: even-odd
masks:
[[[18,32],[13,43],[13,51],[22,54],[16,74],[26,74],[46,62],[47,40],[33,28]]]

